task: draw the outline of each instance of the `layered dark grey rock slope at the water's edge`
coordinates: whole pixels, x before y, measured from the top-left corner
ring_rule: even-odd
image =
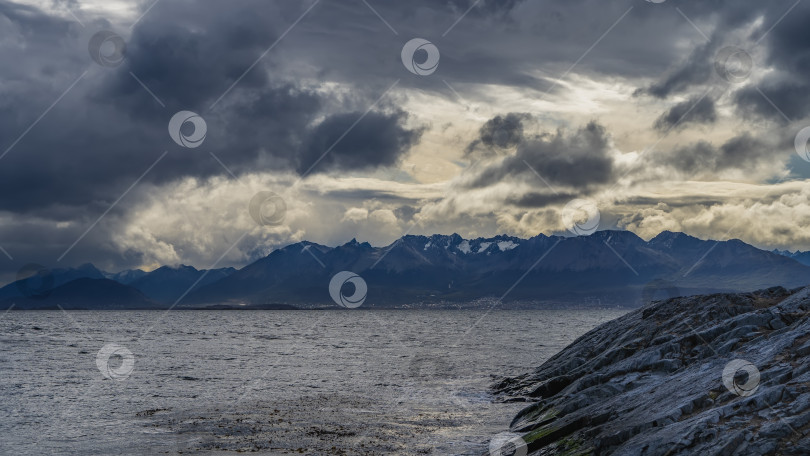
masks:
[[[534,372],[490,455],[810,454],[810,287],[653,302]]]

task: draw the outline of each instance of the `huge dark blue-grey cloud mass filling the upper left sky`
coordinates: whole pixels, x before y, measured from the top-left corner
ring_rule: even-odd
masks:
[[[274,170],[301,170],[301,163],[311,155],[325,152],[326,148],[316,150],[321,145],[318,140],[337,139],[343,132],[335,129],[348,128],[361,115],[357,109],[365,109],[379,93],[360,87],[351,98],[336,100],[285,77],[270,56],[239,79],[268,43],[279,37],[282,27],[303,11],[296,3],[283,5],[254,2],[224,8],[212,4],[204,9],[178,1],[156,6],[156,14],[147,15],[134,29],[126,60],[117,68],[91,63],[86,44],[68,22],[50,19],[35,9],[3,5],[0,11],[9,19],[3,27],[11,35],[37,40],[50,36],[52,42],[73,39],[77,48],[68,59],[39,62],[38,70],[45,76],[56,71],[50,67],[62,67],[66,61],[72,66],[70,71],[60,68],[58,80],[47,81],[47,87],[29,83],[8,90],[17,98],[0,103],[4,146],[82,71],[88,73],[3,159],[0,208],[30,212],[54,205],[86,209],[91,201],[111,203],[163,150],[171,153],[144,177],[144,183],[225,173],[208,151],[237,173],[255,171],[259,162],[270,163]],[[35,44],[48,47],[39,41]],[[5,48],[3,54],[9,51],[13,52]],[[192,110],[206,120],[208,135],[200,149],[182,149],[169,138],[168,121],[180,110]],[[314,123],[321,116],[324,123]],[[346,143],[335,148],[336,157],[325,159],[318,171],[328,171],[332,165],[367,169],[395,163],[421,133],[401,125],[404,118],[371,112],[344,138]],[[381,149],[375,154],[372,149],[377,147]]]

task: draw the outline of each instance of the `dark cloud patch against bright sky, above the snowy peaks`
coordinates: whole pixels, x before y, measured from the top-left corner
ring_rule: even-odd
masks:
[[[468,185],[488,187],[517,177],[537,180],[536,171],[553,185],[587,189],[612,178],[609,146],[607,131],[595,122],[577,131],[526,138],[514,155],[486,167]]]

